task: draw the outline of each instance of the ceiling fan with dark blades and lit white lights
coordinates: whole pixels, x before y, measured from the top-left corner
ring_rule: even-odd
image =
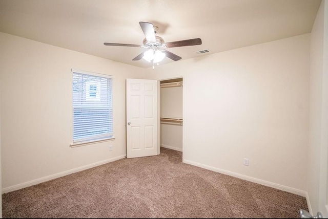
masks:
[[[173,42],[165,42],[163,38],[156,36],[155,33],[158,30],[157,26],[154,26],[148,22],[139,22],[139,25],[142,31],[145,34],[145,39],[142,41],[142,45],[134,45],[134,44],[124,44],[124,43],[111,43],[111,42],[104,42],[105,46],[122,46],[122,47],[141,47],[141,48],[148,48],[149,50],[140,53],[137,55],[133,61],[140,60],[141,58],[146,59],[149,62],[153,63],[163,60],[165,56],[168,58],[178,61],[181,59],[180,56],[175,55],[174,53],[169,52],[166,48],[173,48],[173,47],[186,47],[186,46],[195,46],[201,45],[200,38],[194,39],[186,39],[180,41],[173,41]]]

